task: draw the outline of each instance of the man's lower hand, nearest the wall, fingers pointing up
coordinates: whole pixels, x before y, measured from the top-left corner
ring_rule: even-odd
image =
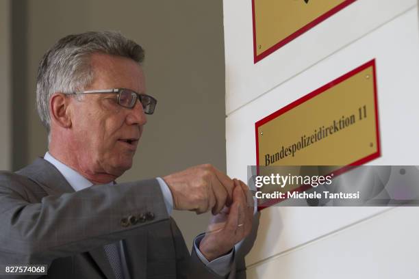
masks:
[[[223,220],[227,215],[227,222]],[[214,216],[208,232],[199,243],[199,250],[212,261],[227,254],[244,237],[249,235],[253,219],[253,198],[242,181],[234,179],[233,204]]]

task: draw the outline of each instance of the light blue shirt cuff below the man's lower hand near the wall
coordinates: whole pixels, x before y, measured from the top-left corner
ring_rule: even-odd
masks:
[[[194,239],[194,248],[196,254],[206,267],[214,271],[219,276],[227,276],[227,274],[229,274],[231,271],[231,265],[234,260],[234,248],[231,249],[231,252],[229,252],[229,254],[220,256],[215,260],[208,261],[198,248],[199,243],[201,243],[201,240],[203,239],[204,235],[205,234],[199,235]]]

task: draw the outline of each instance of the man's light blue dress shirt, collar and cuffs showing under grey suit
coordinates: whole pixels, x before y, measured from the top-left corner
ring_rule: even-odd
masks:
[[[72,168],[68,167],[68,165],[65,165],[64,163],[58,161],[55,159],[49,152],[45,153],[44,159],[49,161],[49,163],[52,163],[55,168],[58,169],[58,171],[66,178],[66,181],[68,184],[73,187],[75,191],[80,191],[82,189],[86,189],[87,187],[90,187],[93,185],[90,181],[88,181],[84,176],[73,170]],[[157,177],[157,181],[160,185],[160,189],[162,190],[162,194],[164,197],[164,203],[166,204],[166,209],[168,212],[168,215],[170,215],[173,211],[173,196],[172,192],[170,191],[168,185],[164,182],[164,180],[160,177]],[[114,182],[111,182],[109,184],[114,184]],[[216,274],[220,276],[225,276],[229,273],[231,268],[231,263],[233,263],[233,256],[234,256],[234,248],[229,252],[229,254],[225,256],[221,256],[220,258],[216,258],[215,260],[209,262],[203,256],[201,251],[199,251],[199,242],[203,238],[203,235],[196,237],[194,239],[194,248],[196,250],[196,254],[199,256],[199,259],[212,271],[214,271]],[[119,241],[119,249],[120,249],[120,255],[121,255],[121,262],[123,263],[123,273],[125,279],[129,279],[129,272],[127,267],[127,261],[125,260],[125,253],[123,249],[123,243],[122,241]],[[236,244],[240,245],[240,243]]]

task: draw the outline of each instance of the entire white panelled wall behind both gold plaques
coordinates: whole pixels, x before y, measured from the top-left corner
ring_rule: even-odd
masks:
[[[257,120],[370,59],[377,66],[382,152],[370,164],[419,165],[416,1],[356,1],[257,64],[250,2],[224,1],[230,176],[246,179],[246,166],[255,165]],[[419,223],[411,222],[418,213],[384,207],[264,209],[246,257],[248,276],[418,278],[413,263],[419,256],[412,251]]]

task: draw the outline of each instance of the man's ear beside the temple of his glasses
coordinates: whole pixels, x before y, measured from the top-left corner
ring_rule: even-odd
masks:
[[[71,111],[68,107],[70,98],[66,94],[56,93],[49,99],[51,122],[56,122],[63,128],[71,127]]]

